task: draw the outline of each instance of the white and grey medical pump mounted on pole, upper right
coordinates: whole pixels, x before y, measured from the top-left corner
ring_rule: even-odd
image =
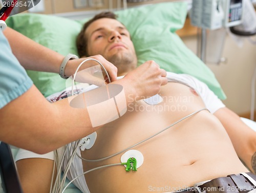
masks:
[[[222,52],[223,38],[225,37],[224,28],[239,25],[243,22],[244,0],[193,0],[190,10],[191,25],[201,29],[199,38],[201,46],[198,49],[198,56],[203,62],[206,62],[206,30],[219,30],[223,35],[220,39]],[[215,38],[215,42],[218,38]],[[200,50],[200,52],[199,52]],[[218,53],[221,54],[221,52]],[[220,58],[220,56],[219,56]],[[218,59],[219,59],[218,58]]]

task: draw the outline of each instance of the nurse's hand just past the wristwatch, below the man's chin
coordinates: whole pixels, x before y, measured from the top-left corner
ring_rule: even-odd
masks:
[[[117,68],[101,55],[69,60],[65,68],[65,75],[68,77],[74,75],[80,63],[89,58],[98,60],[104,66],[110,76],[111,82],[117,80]],[[102,76],[98,76],[101,75],[101,72],[103,78]],[[78,82],[90,83],[98,86],[104,85],[105,82],[109,83],[108,76],[104,72],[103,68],[100,67],[99,63],[94,60],[88,60],[81,65],[75,80]]]

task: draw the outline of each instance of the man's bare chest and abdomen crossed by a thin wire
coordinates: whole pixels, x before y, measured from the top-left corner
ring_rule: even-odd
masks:
[[[205,108],[200,96],[185,85],[162,87],[163,102],[144,101],[128,106],[124,116],[97,131],[95,145],[84,152],[86,159],[100,159],[147,139],[181,118]],[[237,158],[222,124],[208,111],[201,111],[133,147],[144,157],[137,171],[123,165],[92,171],[86,175],[94,192],[167,192],[228,174],[247,171]],[[83,161],[84,171],[121,163],[121,153],[99,162]]]

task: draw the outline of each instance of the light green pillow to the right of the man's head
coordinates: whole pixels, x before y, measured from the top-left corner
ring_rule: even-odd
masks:
[[[149,5],[117,14],[132,35],[139,65],[155,60],[166,71],[190,74],[205,82],[220,99],[226,98],[215,75],[175,33],[186,19],[185,2]]]

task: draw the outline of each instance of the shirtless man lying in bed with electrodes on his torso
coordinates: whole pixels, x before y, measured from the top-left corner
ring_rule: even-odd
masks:
[[[84,25],[77,42],[81,56],[101,54],[117,66],[118,75],[122,76],[136,68],[137,57],[129,32],[115,18],[113,13],[95,16]],[[78,154],[89,160],[107,157],[153,136],[191,113],[204,108],[209,111],[202,110],[133,147],[144,157],[137,171],[125,171],[123,165],[94,170],[75,181],[79,189],[111,193],[173,191],[205,180],[248,172],[238,156],[255,173],[256,133],[228,110],[206,84],[184,74],[168,73],[167,77],[169,82],[159,93],[162,102],[151,105],[144,100],[133,101],[121,118],[97,131],[92,148],[78,149]],[[49,192],[53,153],[45,155],[48,159],[25,154],[21,150],[17,156],[25,192]],[[120,163],[123,154],[97,162],[81,161],[75,156],[71,176],[98,166]],[[24,159],[29,157],[36,159]],[[250,176],[253,175],[250,173]],[[245,180],[237,185],[246,186]]]

